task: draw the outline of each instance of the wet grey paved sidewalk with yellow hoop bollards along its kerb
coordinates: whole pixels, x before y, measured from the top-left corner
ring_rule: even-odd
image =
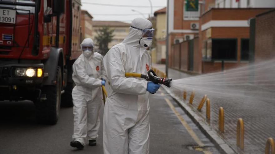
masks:
[[[165,65],[153,64],[153,67],[158,68],[162,71],[165,70]],[[173,80],[190,77],[186,73],[169,68],[168,77]],[[189,97],[191,91],[187,91],[187,100],[183,101],[183,91],[178,91],[176,89],[166,88],[170,95],[178,100],[178,103],[182,105],[183,110],[189,112],[189,116],[197,121],[197,124],[204,132],[208,134],[207,136],[216,141],[221,148],[227,153],[230,152],[232,148],[236,153],[252,153],[261,154],[265,152],[265,144],[267,138],[275,138],[275,119],[274,119],[274,109],[275,104],[267,104],[264,102],[257,102],[250,100],[242,101],[242,103],[235,101],[234,99],[217,99],[215,96],[207,95],[211,101],[211,119],[210,124],[206,122],[206,108],[205,105],[202,111],[197,111],[197,106],[202,99],[202,93],[196,93],[194,97],[194,102],[189,105]],[[218,113],[219,108],[224,109],[224,133],[220,133],[218,130]],[[236,129],[237,120],[242,118],[244,121],[244,150],[240,150],[236,146]],[[226,144],[222,144],[223,141]],[[230,147],[228,147],[228,146]],[[228,149],[229,148],[229,149]]]

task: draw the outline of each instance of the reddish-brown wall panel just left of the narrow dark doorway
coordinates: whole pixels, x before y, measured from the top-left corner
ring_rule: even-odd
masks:
[[[188,68],[188,41],[181,43],[181,70],[187,71]]]

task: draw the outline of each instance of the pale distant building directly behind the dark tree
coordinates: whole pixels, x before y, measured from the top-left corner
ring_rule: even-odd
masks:
[[[98,35],[97,32],[100,28],[104,26],[108,26],[110,27],[111,30],[114,30],[113,41],[108,44],[109,49],[112,46],[119,44],[124,40],[124,38],[129,33],[129,27],[130,27],[129,23],[120,22],[120,21],[93,21],[92,25],[93,25],[92,39],[94,40],[95,44],[96,44],[95,37]]]

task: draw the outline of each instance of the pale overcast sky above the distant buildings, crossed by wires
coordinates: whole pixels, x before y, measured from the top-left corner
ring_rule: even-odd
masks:
[[[143,17],[141,13],[148,18],[151,7],[149,0],[81,0],[82,10],[87,10],[94,18],[93,20],[101,21],[123,21],[131,22],[134,18]],[[153,13],[167,6],[167,0],[151,0]],[[90,4],[88,4],[90,3]],[[129,7],[103,6],[98,4],[110,5],[127,5]],[[147,7],[132,7],[147,6]],[[137,12],[133,12],[135,10]],[[139,13],[141,12],[141,13]]]

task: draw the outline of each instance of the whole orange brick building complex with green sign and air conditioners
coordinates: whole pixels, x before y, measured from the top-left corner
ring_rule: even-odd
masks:
[[[192,73],[247,65],[250,19],[275,7],[270,0],[203,0],[196,14],[185,10],[189,2],[194,1],[168,3],[169,67]]]

